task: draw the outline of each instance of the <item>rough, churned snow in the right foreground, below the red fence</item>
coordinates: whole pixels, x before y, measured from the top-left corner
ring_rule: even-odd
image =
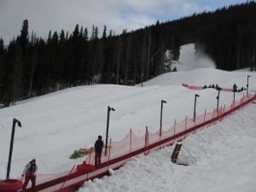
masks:
[[[253,192],[256,189],[256,105],[234,113],[174,146],[133,158],[111,177],[84,183],[79,192]]]

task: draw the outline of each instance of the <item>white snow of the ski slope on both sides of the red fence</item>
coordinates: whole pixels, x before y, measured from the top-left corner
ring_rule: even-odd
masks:
[[[194,51],[193,51],[194,50]],[[10,177],[20,177],[32,158],[38,162],[38,174],[51,174],[71,169],[83,158],[70,160],[73,150],[93,146],[96,137],[105,141],[107,108],[110,114],[109,136],[119,141],[132,129],[142,135],[145,126],[151,131],[160,126],[160,100],[163,108],[163,129],[176,119],[192,117],[195,93],[197,114],[216,108],[214,89],[188,90],[182,83],[218,84],[220,87],[246,86],[256,90],[256,74],[248,70],[225,72],[214,68],[213,62],[196,58],[193,44],[181,49],[183,71],[165,73],[136,86],[97,84],[79,86],[38,96],[11,108],[0,109],[0,178],[5,178],[9,155],[12,119],[20,119],[22,128],[15,130],[15,145]],[[194,60],[191,59],[194,58]],[[186,59],[190,58],[190,59]],[[203,65],[198,65],[202,61]],[[200,68],[203,67],[203,68]],[[181,69],[180,69],[181,70]],[[241,98],[246,92],[236,93]],[[221,92],[219,105],[230,105],[233,93]],[[112,177],[87,182],[84,191],[255,191],[253,177],[256,151],[256,105],[235,113],[204,131],[198,131],[184,142],[180,160],[189,166],[173,165],[173,147],[134,158]],[[253,127],[254,126],[254,127]]]

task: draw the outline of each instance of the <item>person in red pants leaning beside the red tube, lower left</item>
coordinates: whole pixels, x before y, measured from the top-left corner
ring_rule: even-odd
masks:
[[[25,175],[25,182],[22,187],[22,192],[26,191],[26,186],[29,180],[32,182],[32,188],[36,185],[36,172],[38,171],[38,166],[36,164],[36,160],[31,160],[28,164],[26,164],[22,177]]]

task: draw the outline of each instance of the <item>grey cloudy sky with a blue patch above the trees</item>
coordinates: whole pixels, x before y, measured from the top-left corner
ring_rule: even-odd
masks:
[[[27,19],[29,31],[47,38],[52,32],[73,32],[76,24],[90,32],[93,25],[115,33],[136,30],[183,16],[214,10],[246,0],[0,0],[0,38],[5,43],[20,34]],[[100,33],[101,36],[101,33]]]

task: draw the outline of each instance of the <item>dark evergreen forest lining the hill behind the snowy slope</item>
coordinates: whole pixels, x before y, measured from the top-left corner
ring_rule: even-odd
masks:
[[[104,26],[76,25],[68,34],[49,31],[47,39],[28,33],[8,45],[0,39],[0,104],[81,84],[137,84],[165,72],[165,53],[177,60],[182,44],[195,43],[219,69],[256,67],[256,3],[146,26],[114,35]]]

